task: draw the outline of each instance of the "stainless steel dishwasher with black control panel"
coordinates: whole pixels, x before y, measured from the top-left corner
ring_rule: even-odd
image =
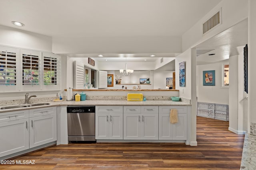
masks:
[[[95,106],[67,106],[68,141],[95,140]]]

